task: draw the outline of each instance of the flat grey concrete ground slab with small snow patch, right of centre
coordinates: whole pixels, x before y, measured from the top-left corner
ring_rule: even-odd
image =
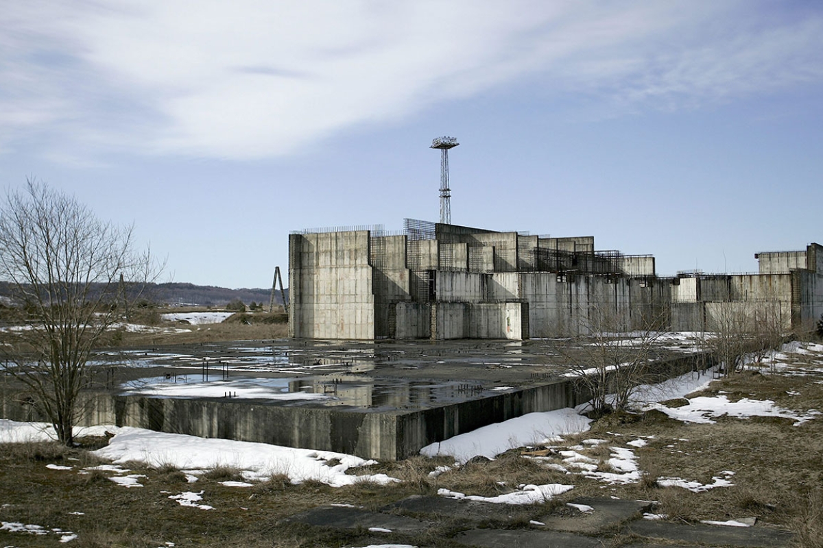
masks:
[[[580,511],[563,505],[544,518],[537,521],[545,523],[546,529],[553,531],[582,532],[593,534],[603,532],[608,528],[616,528],[626,521],[638,518],[641,512],[647,511],[652,504],[640,500],[616,500],[595,497],[580,497],[570,504],[581,504],[591,507],[591,511]]]

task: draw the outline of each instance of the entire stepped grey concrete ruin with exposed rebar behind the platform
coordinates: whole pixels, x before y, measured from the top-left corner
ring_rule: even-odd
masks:
[[[403,233],[292,233],[295,338],[510,338],[654,320],[711,330],[727,312],[811,329],[823,314],[823,247],[759,253],[757,274],[658,278],[654,257],[595,251],[593,237],[540,237],[406,220]]]

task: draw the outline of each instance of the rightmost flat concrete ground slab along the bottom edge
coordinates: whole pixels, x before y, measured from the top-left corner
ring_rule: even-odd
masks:
[[[792,541],[792,533],[765,527],[723,527],[638,520],[625,532],[638,536],[709,546],[746,546],[746,548],[783,548]],[[644,546],[644,545],[643,545]]]

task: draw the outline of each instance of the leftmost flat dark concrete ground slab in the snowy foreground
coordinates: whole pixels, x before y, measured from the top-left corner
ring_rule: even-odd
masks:
[[[390,532],[419,532],[430,527],[419,519],[395,516],[389,513],[370,512],[360,508],[346,506],[318,506],[306,512],[297,513],[286,522],[306,523],[315,527],[331,527],[337,529],[356,529],[363,527],[370,529],[378,527]]]

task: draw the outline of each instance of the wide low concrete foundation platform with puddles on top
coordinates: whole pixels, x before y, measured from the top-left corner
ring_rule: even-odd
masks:
[[[542,341],[244,341],[113,351],[100,362],[111,365],[100,367],[100,389],[81,394],[78,426],[136,426],[384,461],[589,399]],[[692,371],[698,357],[663,349],[658,363],[663,377]],[[43,421],[29,398],[25,386],[3,384],[0,416]]]

